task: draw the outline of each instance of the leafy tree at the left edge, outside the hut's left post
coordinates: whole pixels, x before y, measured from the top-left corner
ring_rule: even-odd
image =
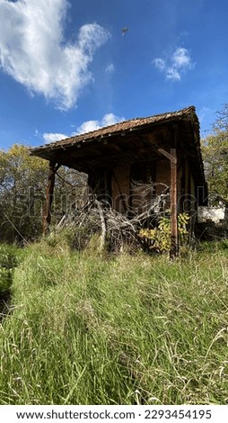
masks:
[[[25,146],[15,144],[0,151],[1,240],[14,242],[39,235],[47,170],[47,164],[31,157]]]

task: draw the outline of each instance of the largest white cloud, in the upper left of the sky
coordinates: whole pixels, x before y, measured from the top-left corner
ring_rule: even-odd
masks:
[[[67,0],[0,0],[0,66],[31,94],[44,94],[64,110],[92,81],[89,65],[110,37],[87,23],[75,42],[65,42],[67,6]]]

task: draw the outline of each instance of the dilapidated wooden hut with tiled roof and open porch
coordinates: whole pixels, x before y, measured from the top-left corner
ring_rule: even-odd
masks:
[[[197,211],[206,198],[195,107],[121,121],[85,134],[33,148],[31,155],[49,161],[48,208],[55,173],[68,166],[88,175],[88,184],[116,211],[134,208],[134,182],[153,183],[153,194],[170,192],[172,236],[179,209]],[[188,210],[187,210],[188,209]]]

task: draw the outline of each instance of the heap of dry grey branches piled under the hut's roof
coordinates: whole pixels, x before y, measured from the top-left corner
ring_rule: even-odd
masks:
[[[144,195],[154,192],[156,184],[134,184],[135,192],[138,190]],[[138,213],[136,209],[128,209],[126,213],[120,213],[110,207],[110,203],[99,201],[95,194],[90,194],[88,202],[81,209],[76,209],[65,215],[57,224],[57,229],[75,227],[81,232],[87,231],[87,240],[94,233],[101,234],[102,250],[109,244],[111,249],[119,249],[124,243],[137,244],[141,242],[137,234],[140,229],[155,226],[159,217],[164,213],[165,204],[170,198],[169,187],[165,188],[160,195],[152,195],[148,202],[143,204],[144,210]]]

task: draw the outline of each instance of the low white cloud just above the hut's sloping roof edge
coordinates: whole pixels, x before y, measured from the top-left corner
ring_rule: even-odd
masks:
[[[125,118],[120,118],[116,116],[114,113],[107,113],[103,116],[101,121],[84,121],[82,125],[80,125],[75,132],[72,132],[71,135],[65,135],[61,133],[52,133],[52,132],[45,132],[43,134],[43,139],[46,143],[58,141],[60,139],[66,139],[68,137],[74,137],[74,135],[83,134],[86,132],[91,132],[92,130],[99,130],[103,126],[110,126],[118,123],[119,121],[125,121]],[[75,125],[71,125],[75,126]]]

